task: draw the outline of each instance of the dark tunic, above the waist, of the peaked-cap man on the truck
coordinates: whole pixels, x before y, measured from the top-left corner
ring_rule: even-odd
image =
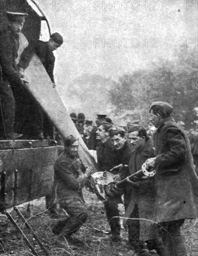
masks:
[[[0,32],[0,65],[3,81],[10,84],[19,83],[21,74],[17,71],[15,60],[18,57],[19,36],[12,33],[9,27]]]

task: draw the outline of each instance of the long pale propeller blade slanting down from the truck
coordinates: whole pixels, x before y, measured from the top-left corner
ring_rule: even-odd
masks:
[[[33,55],[29,66],[26,68],[25,75],[29,81],[26,84],[26,89],[38,101],[60,134],[63,136],[73,135],[79,138],[79,156],[84,166],[92,166],[94,171],[98,171],[94,158],[89,154],[88,148],[67,113],[67,109],[56,88],[53,88],[51,79],[36,54]],[[32,80],[32,76],[34,76],[34,80]]]

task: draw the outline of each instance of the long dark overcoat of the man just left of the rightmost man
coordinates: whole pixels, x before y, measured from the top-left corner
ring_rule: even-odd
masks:
[[[153,140],[149,138],[140,147],[133,150],[129,161],[130,175],[141,169],[141,166],[148,158],[153,157],[155,150],[153,148]],[[151,227],[155,219],[153,207],[155,202],[154,177],[138,182],[139,187],[130,187],[131,198],[126,210],[126,218],[140,218],[140,239],[148,240],[151,238]],[[137,207],[135,207],[135,204]],[[138,209],[138,212],[137,212]],[[126,219],[127,220],[127,219]],[[130,222],[130,221],[129,221]],[[126,222],[127,224],[129,223]],[[133,222],[132,222],[133,223]],[[132,224],[133,225],[133,224]]]

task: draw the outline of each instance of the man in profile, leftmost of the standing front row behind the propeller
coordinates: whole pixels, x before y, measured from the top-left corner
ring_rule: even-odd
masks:
[[[99,124],[99,123],[98,123]],[[111,143],[109,128],[112,125],[107,122],[101,122],[96,131],[96,139],[101,142],[97,145],[97,164],[101,171],[109,171],[118,165],[114,145]],[[122,203],[120,196],[111,197],[104,202],[107,219],[111,229],[111,240],[113,242],[121,241],[121,225],[118,204]]]

